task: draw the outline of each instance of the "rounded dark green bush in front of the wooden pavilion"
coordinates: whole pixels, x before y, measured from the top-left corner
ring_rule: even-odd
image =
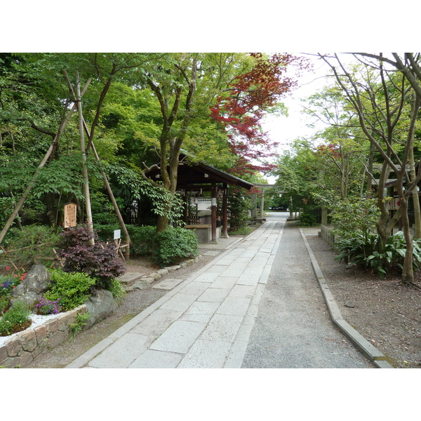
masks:
[[[196,234],[189,229],[170,227],[156,233],[154,241],[154,261],[161,266],[175,265],[199,254]]]

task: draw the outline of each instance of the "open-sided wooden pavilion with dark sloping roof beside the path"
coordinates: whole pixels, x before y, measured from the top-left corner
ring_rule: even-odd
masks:
[[[153,180],[159,180],[159,167],[152,168],[146,175]],[[250,190],[253,184],[218,170],[214,166],[192,161],[189,159],[189,156],[180,154],[177,191],[182,194],[186,203],[184,220],[187,225],[185,228],[196,229],[200,243],[215,243],[218,236],[222,238],[228,237],[227,204],[229,186]],[[210,192],[210,195],[206,194],[208,196],[207,200],[210,202],[209,220],[204,220],[191,212],[192,203],[197,203],[199,199],[203,198],[205,192]],[[220,203],[222,204],[219,216],[217,216],[218,199],[221,199]]]

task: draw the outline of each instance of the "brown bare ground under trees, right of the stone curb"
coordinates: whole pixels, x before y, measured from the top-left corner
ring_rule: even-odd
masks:
[[[395,368],[421,367],[421,274],[417,286],[399,276],[380,279],[362,269],[346,269],[319,236],[306,236],[342,316],[387,356]]]

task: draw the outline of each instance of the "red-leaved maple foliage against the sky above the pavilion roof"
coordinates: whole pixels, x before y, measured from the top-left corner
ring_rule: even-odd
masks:
[[[236,175],[274,168],[274,164],[264,160],[273,155],[278,142],[262,130],[262,118],[296,86],[297,82],[286,76],[288,66],[306,67],[305,60],[290,54],[250,55],[255,59],[253,68],[236,76],[227,95],[220,95],[216,105],[210,108],[213,119],[225,128],[232,152],[239,156],[230,171]]]

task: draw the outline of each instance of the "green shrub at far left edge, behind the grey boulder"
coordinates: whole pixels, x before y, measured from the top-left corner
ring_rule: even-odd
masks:
[[[18,261],[23,267],[30,267],[42,261],[48,264],[48,259],[54,256],[53,248],[60,241],[60,236],[49,227],[29,225],[22,231],[14,230],[8,243],[7,260]]]

